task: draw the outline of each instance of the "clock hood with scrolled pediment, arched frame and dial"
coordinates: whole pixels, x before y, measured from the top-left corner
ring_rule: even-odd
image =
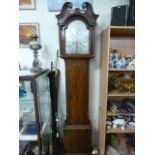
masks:
[[[73,9],[72,3],[66,2],[61,13],[56,16],[60,56],[64,59],[91,59],[95,56],[95,26],[98,15],[88,2],[84,2],[82,8]]]

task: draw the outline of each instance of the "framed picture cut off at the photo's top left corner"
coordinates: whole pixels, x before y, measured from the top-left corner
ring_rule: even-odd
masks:
[[[34,10],[36,8],[35,0],[19,0],[20,10]]]

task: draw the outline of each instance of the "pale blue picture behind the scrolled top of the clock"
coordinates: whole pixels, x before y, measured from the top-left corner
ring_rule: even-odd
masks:
[[[60,11],[65,2],[71,2],[73,8],[82,9],[83,2],[93,3],[93,0],[48,0],[48,11]]]

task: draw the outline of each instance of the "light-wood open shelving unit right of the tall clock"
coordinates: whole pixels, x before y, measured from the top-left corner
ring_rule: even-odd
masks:
[[[110,26],[102,33],[102,52],[101,52],[101,72],[100,72],[100,106],[99,106],[99,154],[106,154],[106,137],[109,134],[135,134],[135,129],[121,127],[106,129],[106,119],[109,116],[118,116],[119,113],[111,112],[107,109],[108,101],[112,99],[135,99],[135,93],[108,91],[109,75],[112,73],[132,73],[135,69],[116,69],[109,68],[110,48],[135,48],[135,28]],[[135,116],[135,113],[121,113],[122,116]]]

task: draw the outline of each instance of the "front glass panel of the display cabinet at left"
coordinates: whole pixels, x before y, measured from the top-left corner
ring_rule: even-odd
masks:
[[[31,81],[19,84],[19,140],[37,141],[34,98]]]

